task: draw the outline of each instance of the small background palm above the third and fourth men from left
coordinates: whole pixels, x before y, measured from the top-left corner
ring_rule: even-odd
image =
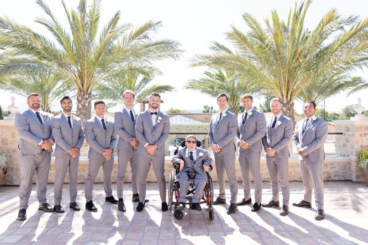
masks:
[[[134,106],[149,97],[152,92],[165,93],[176,91],[175,88],[169,84],[148,86],[148,83],[152,81],[155,75],[159,74],[161,74],[161,72],[153,67],[131,68],[130,71],[125,74],[118,75],[100,84],[93,97],[98,100],[109,101],[109,106],[111,107],[117,104],[125,105],[123,100],[124,91],[131,90],[134,92],[135,96]]]

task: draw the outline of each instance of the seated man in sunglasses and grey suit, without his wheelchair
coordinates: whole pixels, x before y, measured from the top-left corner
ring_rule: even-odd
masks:
[[[203,197],[203,189],[206,181],[208,181],[206,172],[209,172],[211,169],[210,165],[212,163],[212,158],[208,156],[208,152],[205,149],[197,147],[197,138],[190,134],[186,138],[185,147],[178,151],[173,159],[171,159],[171,162],[174,168],[180,171],[176,175],[176,179],[179,180],[180,184],[178,208],[180,210],[185,209],[187,193],[191,179],[193,179],[195,193],[192,196],[192,209],[198,211],[202,210],[199,201]]]

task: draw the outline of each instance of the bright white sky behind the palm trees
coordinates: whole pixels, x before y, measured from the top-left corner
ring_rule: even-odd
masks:
[[[59,0],[46,0],[53,14],[60,22],[66,23],[66,15]],[[65,0],[68,8],[77,7],[78,0]],[[91,3],[92,1],[88,1]],[[299,1],[298,1],[299,3]],[[194,54],[209,53],[209,44],[212,40],[225,43],[224,32],[230,31],[230,24],[246,32],[247,27],[242,20],[242,14],[249,12],[262,24],[264,18],[270,18],[271,10],[276,9],[282,19],[287,19],[290,7],[294,8],[294,0],[211,0],[211,1],[122,1],[103,0],[102,24],[105,24],[112,15],[120,10],[120,23],[131,22],[133,25],[140,25],[149,19],[162,20],[163,27],[156,35],[157,38],[170,38],[182,43],[182,48],[186,51],[184,57],[179,61],[159,62],[157,67],[161,69],[163,75],[155,78],[152,84],[172,84],[177,88],[176,93],[165,93],[162,95],[164,103],[161,110],[166,111],[170,107],[178,109],[203,109],[204,105],[217,108],[216,100],[204,94],[192,90],[183,90],[182,87],[189,79],[198,79],[204,76],[205,67],[188,68],[188,59]],[[368,1],[362,0],[316,0],[309,7],[306,26],[309,29],[315,28],[322,16],[331,8],[337,8],[343,16],[361,15],[367,17]],[[30,26],[37,32],[47,33],[39,24],[33,22],[36,16],[45,16],[42,9],[32,0],[12,0],[1,1],[1,15],[8,15],[20,23]],[[65,25],[66,26],[66,25]],[[356,71],[355,76],[362,76],[368,80],[368,70]],[[340,111],[346,105],[357,103],[358,97],[362,98],[362,106],[368,108],[368,99],[364,95],[367,91],[355,93],[346,97],[346,93],[326,100],[327,111]],[[11,104],[11,96],[15,96],[15,105],[24,110],[27,107],[26,98],[3,93],[0,97],[0,104],[6,110]],[[262,98],[255,98],[254,105],[259,105]],[[74,105],[75,106],[75,105]],[[320,107],[321,105],[319,105]],[[110,109],[110,112],[117,111],[123,106]],[[302,105],[296,102],[296,111],[301,113]],[[258,106],[259,108],[259,106]],[[59,105],[53,110],[59,110]],[[139,109],[137,105],[136,109]]]

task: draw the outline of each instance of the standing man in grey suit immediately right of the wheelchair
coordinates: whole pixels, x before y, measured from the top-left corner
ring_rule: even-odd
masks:
[[[213,115],[208,130],[208,140],[215,152],[215,165],[220,194],[213,202],[214,205],[226,203],[225,199],[225,170],[230,185],[230,206],[227,213],[235,213],[237,208],[236,195],[238,194],[238,183],[235,174],[235,144],[237,117],[227,110],[229,97],[226,94],[217,96],[219,113]]]

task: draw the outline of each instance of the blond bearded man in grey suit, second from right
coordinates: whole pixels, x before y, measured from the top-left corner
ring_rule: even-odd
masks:
[[[279,207],[279,177],[282,192],[282,209],[280,215],[289,213],[289,148],[287,145],[293,136],[293,120],[281,113],[282,103],[278,98],[270,101],[272,116],[266,120],[266,135],[262,144],[266,152],[266,164],[270,175],[272,199],[262,207]]]

